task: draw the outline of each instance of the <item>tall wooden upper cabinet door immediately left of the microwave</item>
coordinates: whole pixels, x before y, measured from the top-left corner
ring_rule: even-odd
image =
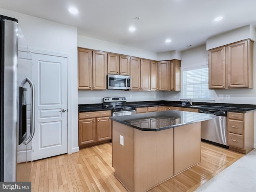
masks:
[[[93,90],[106,90],[107,54],[92,52]]]

